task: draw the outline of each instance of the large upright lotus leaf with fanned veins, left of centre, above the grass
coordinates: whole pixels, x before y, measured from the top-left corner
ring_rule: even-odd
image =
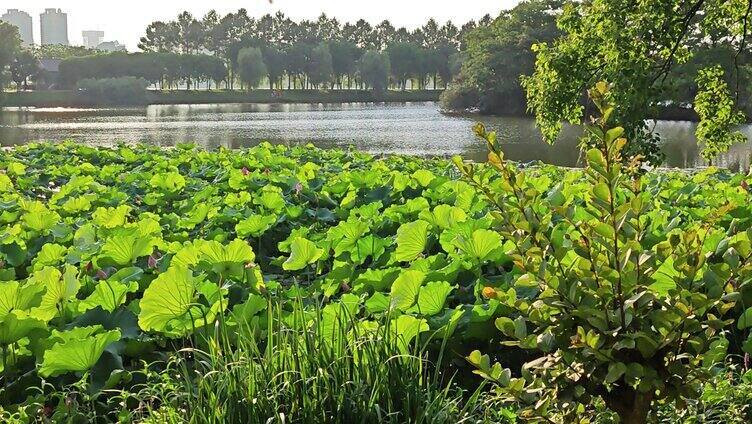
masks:
[[[213,312],[197,303],[198,285],[191,271],[170,267],[144,290],[138,325],[144,331],[180,337],[213,323]]]

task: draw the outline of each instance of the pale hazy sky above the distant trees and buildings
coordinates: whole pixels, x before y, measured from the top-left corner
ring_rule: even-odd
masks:
[[[82,30],[103,30],[105,41],[117,40],[136,50],[138,39],[152,21],[173,19],[182,10],[197,17],[210,9],[220,13],[248,10],[254,17],[283,11],[293,20],[315,19],[322,12],[340,22],[363,18],[372,24],[389,19],[396,27],[415,28],[428,18],[439,22],[451,19],[458,26],[490,13],[497,15],[518,0],[1,0],[5,9],[21,9],[34,20],[34,41],[39,42],[39,14],[45,8],[61,8],[68,13],[68,37],[81,44]]]

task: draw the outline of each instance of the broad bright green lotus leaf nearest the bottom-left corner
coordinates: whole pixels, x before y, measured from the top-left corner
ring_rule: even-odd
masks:
[[[101,331],[102,326],[99,325],[65,332],[53,331],[50,340],[54,340],[55,344],[44,352],[39,375],[54,377],[90,370],[99,361],[105,348],[120,340],[118,330]]]

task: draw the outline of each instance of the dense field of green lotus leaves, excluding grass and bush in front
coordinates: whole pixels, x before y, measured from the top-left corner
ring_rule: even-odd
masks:
[[[241,326],[263,340],[271,301],[282,305],[283,321],[292,319],[288,304],[318,311],[324,338],[342,326],[388,326],[405,352],[444,340],[447,369],[462,374],[474,364],[503,380],[488,357],[471,352],[522,363],[502,342],[536,343],[517,316],[520,302],[536,307],[544,289],[522,278],[498,211],[458,165],[267,143],[4,150],[2,405],[12,409],[36,388],[82,378],[91,391],[127,386],[145,363],[220,324],[230,345]],[[546,199],[535,206],[539,214],[594,195],[585,170],[540,165],[524,175],[518,183]],[[506,190],[489,165],[475,165],[473,178]],[[652,204],[648,250],[660,249],[675,228],[722,213],[703,227],[708,265],[697,278],[739,291],[718,319],[729,320],[724,349],[742,353],[752,326],[752,308],[744,307],[752,305],[749,178],[709,168],[650,172],[643,182]],[[574,229],[553,222],[549,234],[557,250],[576,249]],[[656,296],[676,289],[680,266],[666,261],[655,270]],[[477,384],[469,372],[463,378]]]

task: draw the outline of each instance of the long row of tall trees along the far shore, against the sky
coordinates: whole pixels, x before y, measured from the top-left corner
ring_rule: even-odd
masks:
[[[485,17],[480,24],[487,24]],[[478,26],[458,28],[429,20],[409,31],[389,21],[376,26],[365,20],[340,24],[321,15],[294,22],[283,13],[255,19],[245,9],[201,19],[188,12],[170,22],[154,22],[139,47],[145,52],[206,54],[227,67],[227,88],[267,81],[269,88],[436,88],[446,86],[459,69],[465,34]]]

